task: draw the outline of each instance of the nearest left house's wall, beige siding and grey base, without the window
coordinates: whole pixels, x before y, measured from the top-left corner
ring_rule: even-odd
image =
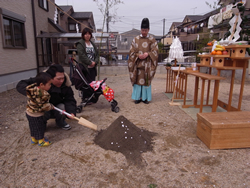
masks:
[[[0,7],[26,18],[24,26],[27,43],[26,49],[3,48],[2,28],[0,28],[0,92],[2,92],[12,89],[20,79],[33,76],[37,62],[31,1],[0,1]]]

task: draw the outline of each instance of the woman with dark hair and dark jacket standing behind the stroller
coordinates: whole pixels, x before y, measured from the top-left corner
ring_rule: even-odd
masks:
[[[97,75],[96,65],[99,59],[97,48],[91,41],[92,38],[91,29],[86,27],[82,31],[82,39],[76,43],[79,62],[85,68],[83,73],[86,76],[88,83],[95,81]]]

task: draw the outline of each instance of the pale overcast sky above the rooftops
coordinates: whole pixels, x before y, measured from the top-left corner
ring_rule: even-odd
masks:
[[[104,0],[99,0],[99,4]],[[126,32],[133,28],[140,29],[141,20],[149,18],[150,33],[163,35],[165,19],[165,34],[172,22],[182,22],[186,15],[204,15],[212,9],[205,2],[214,4],[217,0],[123,0],[123,4],[110,9],[110,16],[116,9],[116,20],[109,24],[109,31]],[[104,16],[93,0],[55,0],[57,5],[72,5],[75,12],[93,12],[96,28],[103,25]],[[104,31],[107,31],[106,24]]]

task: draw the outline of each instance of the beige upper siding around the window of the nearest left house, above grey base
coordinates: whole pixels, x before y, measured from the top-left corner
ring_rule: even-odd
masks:
[[[0,76],[24,70],[36,69],[31,1],[0,1],[0,7],[26,17],[24,25],[27,42],[27,49],[4,49],[2,29],[0,29]],[[0,27],[2,27],[2,25]]]

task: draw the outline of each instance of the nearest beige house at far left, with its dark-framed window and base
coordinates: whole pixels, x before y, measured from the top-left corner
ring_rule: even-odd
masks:
[[[37,73],[36,28],[32,14],[38,1],[0,3],[0,92]]]

